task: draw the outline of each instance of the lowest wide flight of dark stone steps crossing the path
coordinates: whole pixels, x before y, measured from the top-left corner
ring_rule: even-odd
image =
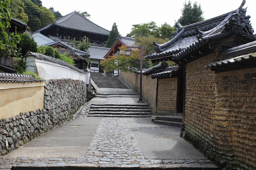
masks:
[[[147,104],[91,104],[88,116],[151,117]]]

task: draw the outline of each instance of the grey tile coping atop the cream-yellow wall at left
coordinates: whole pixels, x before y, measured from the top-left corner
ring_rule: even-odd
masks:
[[[32,75],[28,75],[28,74],[0,72],[0,83],[1,82],[27,83],[27,82],[43,82],[43,80],[35,79]]]

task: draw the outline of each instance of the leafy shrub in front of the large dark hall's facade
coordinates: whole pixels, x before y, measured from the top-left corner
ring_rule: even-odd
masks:
[[[83,41],[76,41],[75,38],[70,39],[70,37],[68,37],[67,44],[77,50],[85,52],[91,47],[89,39],[86,36],[83,37]]]

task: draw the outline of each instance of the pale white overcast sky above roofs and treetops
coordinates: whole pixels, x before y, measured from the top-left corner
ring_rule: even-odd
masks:
[[[122,36],[130,33],[133,24],[154,21],[157,26],[167,22],[171,26],[181,16],[185,0],[41,0],[46,8],[53,7],[63,16],[76,11],[86,11],[90,20],[107,30],[111,30],[114,22]],[[237,9],[242,0],[191,0],[201,4],[203,17],[210,19]],[[187,0],[188,2],[188,0]],[[256,0],[246,0],[246,15],[250,15],[250,23],[256,33]]]

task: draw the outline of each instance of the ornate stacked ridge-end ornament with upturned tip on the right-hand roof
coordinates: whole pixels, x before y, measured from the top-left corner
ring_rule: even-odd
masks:
[[[251,16],[246,16],[246,8],[243,8],[245,5],[245,0],[241,3],[240,7],[237,9],[236,13],[232,14],[231,19],[224,24],[224,29],[221,31],[222,33],[232,31],[237,34],[240,31],[245,31],[248,34],[253,34],[254,30],[252,25],[250,24]]]

